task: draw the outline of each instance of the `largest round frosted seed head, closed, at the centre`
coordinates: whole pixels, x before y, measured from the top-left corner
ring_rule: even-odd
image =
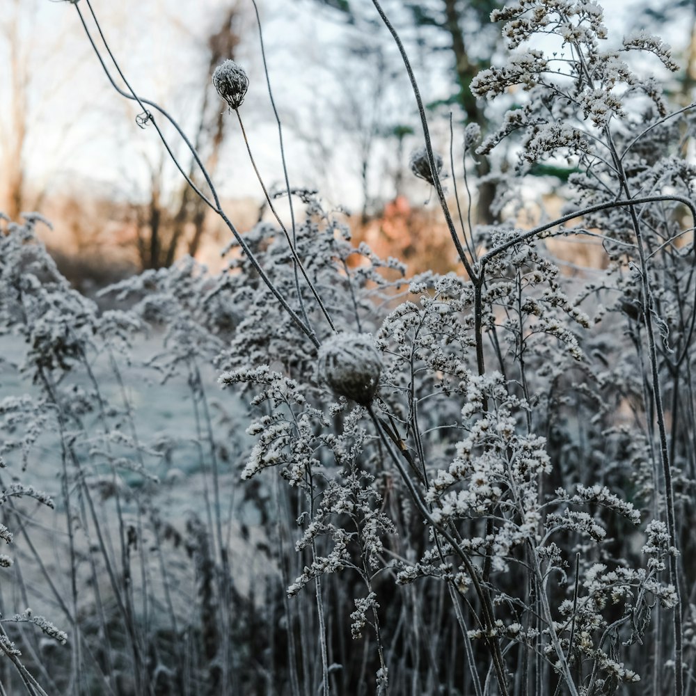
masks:
[[[319,369],[335,393],[369,406],[377,394],[382,361],[369,333],[339,333],[319,349]]]

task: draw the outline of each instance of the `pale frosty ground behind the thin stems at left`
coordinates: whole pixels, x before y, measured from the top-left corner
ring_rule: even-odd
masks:
[[[65,454],[53,419],[31,445],[23,466],[21,450],[8,445],[21,440],[31,427],[26,422],[8,427],[7,414],[0,416],[0,452],[6,463],[0,469],[0,489],[21,483],[45,491],[55,503],[50,509],[32,498],[10,498],[0,507],[1,521],[14,534],[13,543],[2,549],[14,561],[10,569],[0,569],[3,613],[21,611],[29,603],[35,612],[60,623],[58,598],[68,602],[71,596],[72,559],[78,606],[86,611],[93,608],[94,583],[99,585],[102,601],[109,603],[111,583],[122,585],[128,565],[139,601],[137,611],[149,615],[158,603],[164,606],[164,584],[168,583],[175,614],[185,615],[196,596],[191,558],[199,543],[191,536],[189,523],[200,521],[208,529],[216,529],[216,511],[235,589],[247,594],[253,581],[269,571],[266,556],[258,553],[258,545],[265,541],[258,513],[254,505],[244,502],[244,484],[239,480],[246,450],[246,406],[231,390],[221,390],[214,367],[201,361],[215,440],[216,487],[200,393],[194,397],[185,374],[162,383],[147,364],[158,351],[161,340],[154,336],[136,344],[132,361],[119,359],[122,384],[108,356],[91,363],[109,414],[110,434],[104,436],[104,420],[98,412],[85,413],[84,429],[79,432],[72,424],[65,436],[65,441],[73,443],[75,458]],[[40,398],[38,386],[19,370],[25,355],[26,348],[18,338],[0,337],[0,408],[17,397]],[[83,370],[67,374],[62,386],[89,390],[90,379]],[[77,394],[79,391],[76,398]],[[109,412],[110,406],[123,408],[124,396],[132,409],[132,421]],[[120,432],[125,435],[124,443],[119,443]],[[139,452],[132,447],[134,438]],[[88,485],[79,485],[81,480]],[[127,540],[125,546],[122,539]],[[219,556],[218,549],[212,553]],[[155,620],[153,616],[148,620]],[[168,613],[159,616],[166,618]]]

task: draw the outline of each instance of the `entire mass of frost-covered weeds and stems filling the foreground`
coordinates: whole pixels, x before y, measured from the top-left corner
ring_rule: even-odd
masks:
[[[339,215],[325,212],[314,192],[292,189],[287,171],[278,195],[259,176],[276,222],[244,237],[204,176],[211,198],[197,192],[235,238],[228,268],[208,276],[187,260],[122,283],[109,292],[120,301],[136,296],[129,313],[100,313],[37,253],[31,230],[10,230],[3,241],[13,238],[14,256],[4,265],[0,256],[10,288],[1,317],[26,340],[25,369],[41,400],[2,402],[3,425],[22,432],[0,454],[19,450],[26,461],[42,429],[58,430],[73,585],[74,539],[94,530],[119,625],[129,633],[127,664],[137,668],[143,693],[154,676],[140,651],[157,640],[137,633],[131,555],[147,567],[137,543],[143,520],[160,553],[164,541],[183,537],[152,502],[148,450],[127,400],[109,406],[92,365],[149,324],[165,335],[151,365],[163,380],[187,376],[193,439],[212,475],[207,522],[193,517],[185,531],[200,600],[191,631],[200,631],[201,680],[211,693],[235,683],[246,662],[232,646],[230,613],[216,612],[237,597],[221,512],[221,440],[228,440],[246,448],[235,471],[267,532],[260,554],[283,583],[263,624],[269,635],[284,632],[283,647],[254,657],[282,653],[277,680],[287,679],[293,696],[356,693],[355,675],[368,669],[384,694],[455,693],[456,683],[476,696],[599,696],[639,693],[647,683],[644,691],[683,696],[685,656],[693,661],[695,653],[693,616],[684,631],[681,619],[683,590],[696,578],[679,560],[696,551],[688,533],[696,480],[696,171],[682,154],[692,124],[686,109],[669,113],[660,83],[635,74],[628,57],[647,51],[672,70],[668,47],[644,33],[612,47],[593,2],[524,0],[496,10],[514,54],[484,70],[472,89],[503,100],[515,91],[516,106],[475,154],[521,134],[518,175],[543,159],[565,161],[574,173],[559,219],[532,230],[516,219],[473,230],[459,214],[457,228],[408,56],[373,4],[397,41],[422,117],[426,145],[412,171],[434,187],[462,269],[404,283],[400,262],[354,248]],[[525,48],[538,33],[555,37],[558,50]],[[246,73],[227,61],[213,81],[253,163],[239,114]],[[466,127],[465,157],[479,136],[477,126]],[[504,172],[500,179],[514,198],[516,181]],[[276,210],[282,196],[287,226]],[[303,221],[295,219],[298,199]],[[578,218],[582,225],[553,232]],[[608,267],[583,278],[565,274],[544,237],[571,232],[601,240]],[[241,387],[250,400],[249,445],[238,421],[223,420],[215,432],[201,376],[201,363],[212,361],[220,383]],[[87,386],[71,382],[77,372]],[[146,480],[142,493],[127,489],[122,469]],[[0,505],[15,490],[32,495],[8,487]],[[97,491],[136,511],[133,521],[119,518],[124,587],[100,535]],[[4,539],[10,533],[0,527]],[[166,568],[161,556],[160,564]],[[79,640],[77,590],[65,607]],[[172,652],[186,663],[189,643],[171,615]],[[100,628],[109,635],[106,621]],[[365,641],[359,659],[349,638]],[[10,638],[0,643],[16,656]],[[122,664],[109,667],[112,690]],[[260,688],[253,679],[244,685],[251,683]]]

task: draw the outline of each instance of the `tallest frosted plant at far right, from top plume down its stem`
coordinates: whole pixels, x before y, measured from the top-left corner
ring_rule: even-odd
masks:
[[[568,209],[576,216],[584,214],[583,229],[600,230],[612,260],[608,278],[617,278],[615,283],[608,279],[591,283],[588,293],[613,292],[613,306],[640,334],[635,335],[634,345],[644,375],[646,429],[659,462],[654,468],[653,496],[660,497],[653,499],[652,509],[659,510],[662,498],[674,548],[668,565],[677,593],[675,688],[682,693],[676,551],[680,534],[674,497],[679,430],[672,424],[672,432],[667,432],[665,397],[670,391],[677,395],[674,380],[679,379],[683,361],[688,361],[693,337],[689,326],[693,326],[694,306],[690,300],[685,306],[692,283],[686,269],[692,267],[688,257],[693,247],[680,242],[685,230],[678,215],[686,207],[692,216],[687,230],[693,230],[694,172],[688,162],[672,154],[672,148],[681,147],[675,117],[683,111],[668,114],[656,80],[634,74],[626,54],[647,51],[669,70],[677,70],[677,65],[669,47],[645,33],[624,38],[618,50],[603,49],[606,29],[601,9],[592,3],[514,3],[493,13],[493,19],[506,22],[504,33],[511,49],[538,31],[560,39],[560,55],[548,57],[530,50],[513,56],[505,68],[491,68],[477,77],[472,89],[482,96],[496,96],[517,85],[528,92],[523,106],[507,112],[503,127],[489,136],[479,152],[489,152],[519,129],[524,133],[522,164],[564,156],[583,170],[571,177],[574,194]],[[679,357],[674,358],[675,353]],[[661,375],[663,365],[671,365],[667,381]],[[672,402],[670,415],[679,420],[678,402]]]

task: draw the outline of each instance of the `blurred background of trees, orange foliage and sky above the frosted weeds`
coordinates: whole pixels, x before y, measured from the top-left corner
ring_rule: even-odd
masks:
[[[354,0],[259,4],[292,186],[317,189],[329,205],[347,206],[356,242],[364,239],[385,255],[400,255],[411,272],[433,264],[448,267],[453,260],[443,255],[447,233],[427,205],[429,187],[408,171],[410,152],[422,144],[416,104],[372,5]],[[489,20],[500,4],[385,3],[411,54],[445,172],[458,180],[463,126],[477,122],[486,134],[502,113],[501,106],[483,104],[469,90],[475,74],[502,56],[499,28]],[[235,224],[251,228],[268,211],[236,124],[212,98],[210,86],[210,75],[223,59],[245,65],[252,79],[244,104],[251,143],[264,177],[280,184],[251,3],[187,0],[171,8],[158,0],[128,0],[97,9],[136,91],[180,121]],[[168,267],[185,254],[216,269],[219,249],[228,242],[225,232],[191,195],[153,129],[139,129],[136,109],[109,89],[77,17],[64,10],[63,3],[7,0],[0,17],[0,96],[7,105],[0,112],[0,210],[12,219],[25,210],[52,219],[55,230],[45,241],[84,292],[137,270]],[[696,74],[695,17],[694,3],[684,0],[615,4],[606,21],[626,31],[648,26],[670,36],[686,65],[670,93],[675,102],[687,104]],[[173,142],[184,171],[202,184],[193,160]],[[479,223],[500,216],[492,205],[495,172],[507,164],[504,152],[498,157],[503,161],[480,157],[470,172]],[[570,173],[562,162],[529,172],[544,196]],[[466,191],[457,193],[466,205]]]

